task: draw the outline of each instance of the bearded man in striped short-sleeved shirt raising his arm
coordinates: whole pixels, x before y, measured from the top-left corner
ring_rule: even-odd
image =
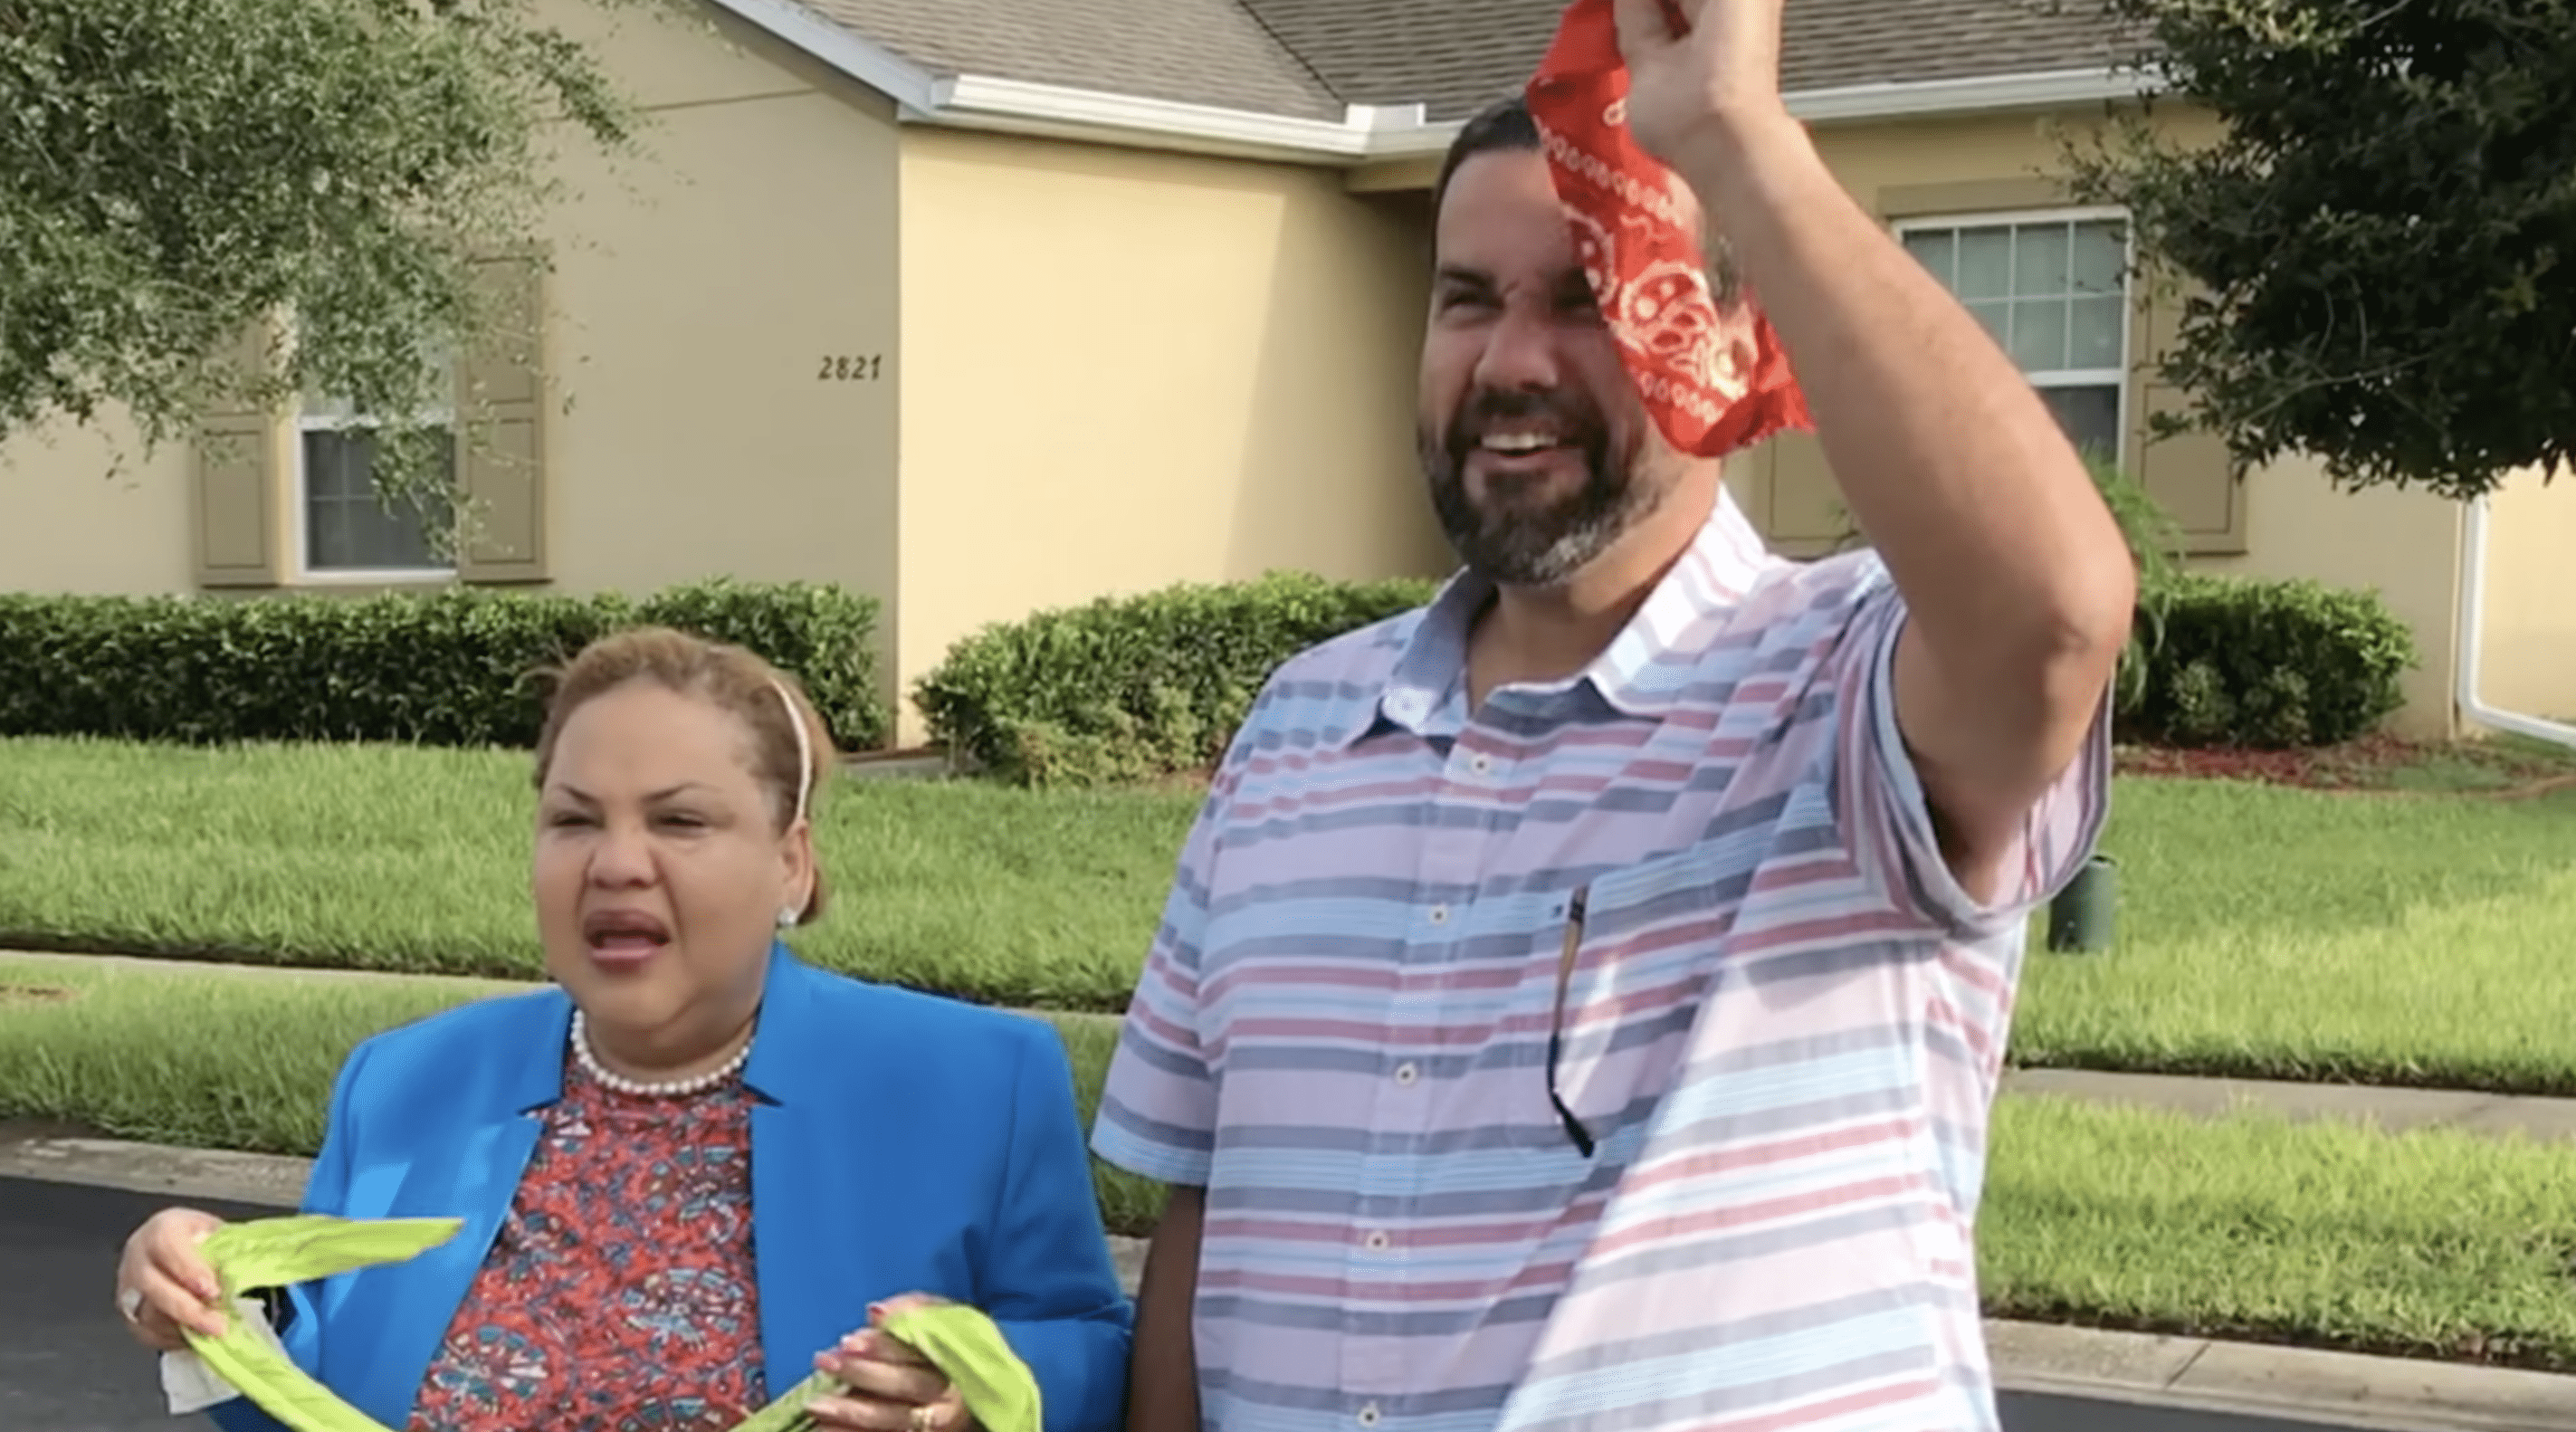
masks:
[[[1262,690],[1103,1097],[1100,1156],[1172,1185],[1133,1432],[1994,1427],[1986,1113],[2133,569],[1788,116],[1780,0],[1682,10],[1620,0],[1628,124],[1875,551],[1762,554],[1649,422],[1528,113],[1471,124],[1419,394],[1466,572]]]

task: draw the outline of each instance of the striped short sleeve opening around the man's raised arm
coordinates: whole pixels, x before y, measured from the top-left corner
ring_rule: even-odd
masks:
[[[1896,729],[1896,636],[1904,626],[1904,595],[1880,579],[1855,605],[1839,644],[1839,670],[1832,672],[1837,814],[1862,876],[1893,909],[1960,937],[1994,935],[2066,889],[2102,837],[2110,814],[2110,693],[2074,760],[2022,814],[2004,889],[1978,901],[1942,858],[1922,773]]]

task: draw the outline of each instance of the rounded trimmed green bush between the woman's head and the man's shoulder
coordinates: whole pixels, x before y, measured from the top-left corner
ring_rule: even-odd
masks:
[[[1435,590],[1273,572],[1041,610],[958,641],[914,703],[933,739],[1020,786],[1206,770],[1280,662]]]

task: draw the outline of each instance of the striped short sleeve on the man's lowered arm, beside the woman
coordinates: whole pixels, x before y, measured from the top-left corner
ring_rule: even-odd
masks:
[[[1206,1187],[1216,1151],[1216,1077],[1200,1046],[1198,961],[1229,788],[1231,780],[1218,778],[1182,842],[1092,1120],[1092,1154],[1167,1185]]]

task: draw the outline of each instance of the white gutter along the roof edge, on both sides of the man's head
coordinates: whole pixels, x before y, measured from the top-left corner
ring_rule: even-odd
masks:
[[[1342,118],[1293,118],[989,75],[933,75],[796,0],[714,0],[714,5],[891,98],[907,124],[1337,165],[1440,155],[1463,129],[1461,121],[1430,124],[1422,106],[1347,106]],[[1801,90],[1788,95],[1788,103],[1790,113],[1808,124],[1850,124],[2071,108],[2130,100],[2159,88],[2159,77],[2120,70],[2050,70]]]

